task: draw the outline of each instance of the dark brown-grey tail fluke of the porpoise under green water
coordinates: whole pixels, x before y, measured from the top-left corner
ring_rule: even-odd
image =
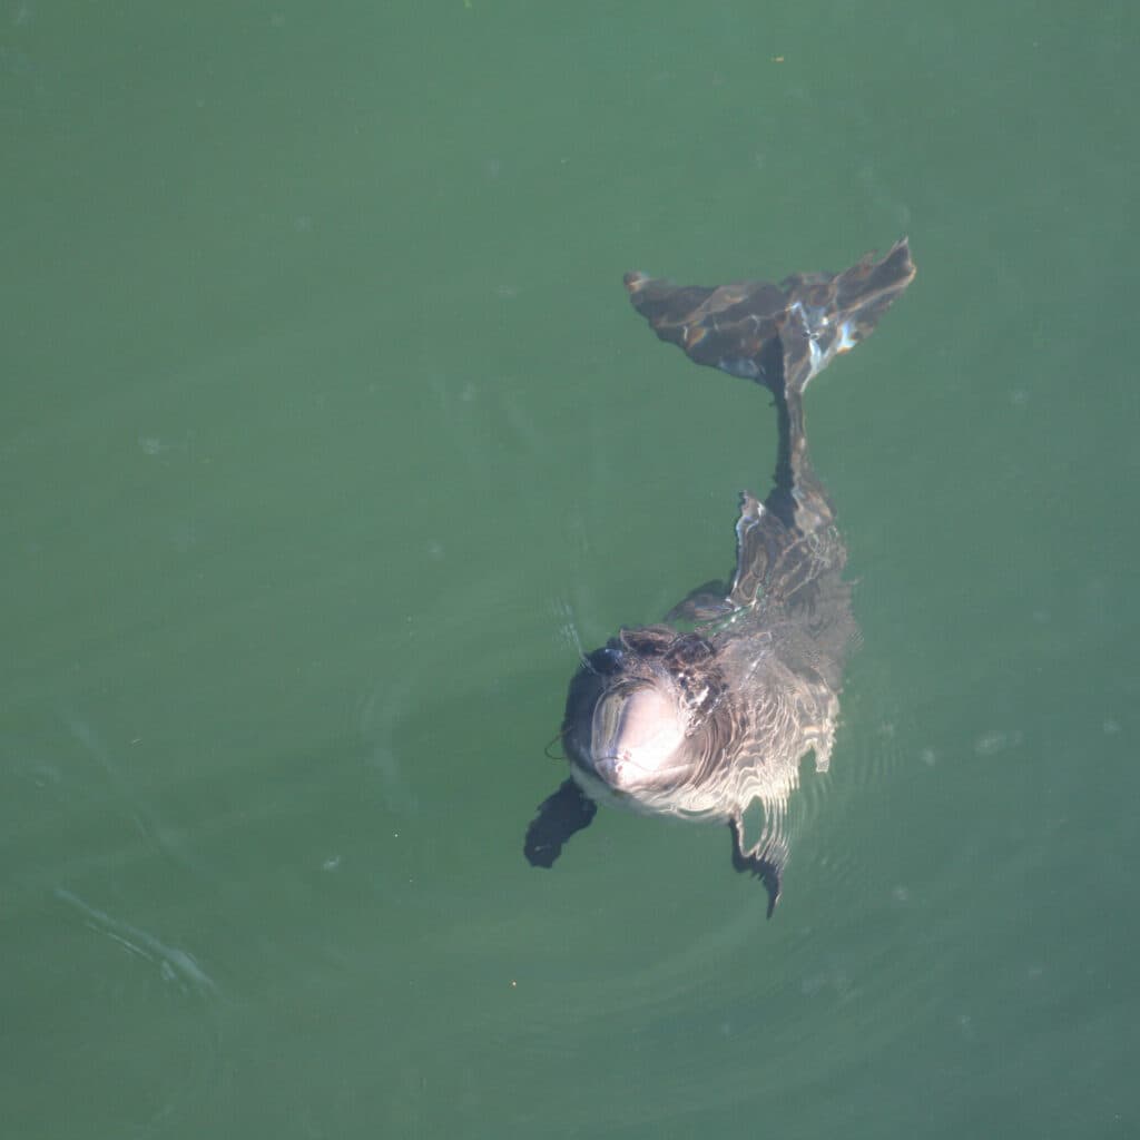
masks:
[[[644,274],[626,274],[625,283],[653,332],[690,360],[801,392],[833,357],[870,336],[913,278],[904,237],[879,261],[868,254],[841,274],[796,274],[780,285],[705,288]]]

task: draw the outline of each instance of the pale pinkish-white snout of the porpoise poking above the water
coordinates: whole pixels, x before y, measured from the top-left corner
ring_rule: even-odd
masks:
[[[683,766],[684,740],[678,701],[652,683],[618,684],[594,706],[591,759],[611,788],[632,791],[668,780]]]

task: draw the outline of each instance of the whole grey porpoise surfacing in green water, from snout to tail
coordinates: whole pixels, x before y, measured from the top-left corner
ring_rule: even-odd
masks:
[[[571,779],[527,831],[534,865],[551,866],[598,800],[727,821],[733,866],[763,880],[772,914],[788,856],[788,798],[807,752],[816,771],[828,767],[856,635],[847,551],[808,458],[804,390],[870,335],[913,277],[905,239],[881,260],[780,285],[681,287],[626,276],[634,308],[661,340],[772,393],[776,470],[763,503],[741,496],[730,584],[700,587],[669,624],[622,628],[583,658],[562,724]],[[764,828],[747,845],[743,816],[755,800]]]

